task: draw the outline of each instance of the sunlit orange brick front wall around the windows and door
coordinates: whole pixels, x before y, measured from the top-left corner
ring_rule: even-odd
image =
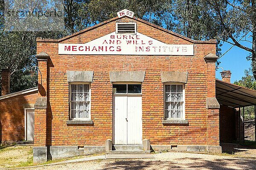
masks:
[[[133,21],[123,18],[123,21]],[[167,44],[192,44],[145,23],[137,22],[141,34]],[[115,21],[61,43],[85,43],[115,31]],[[48,145],[104,145],[112,139],[112,83],[109,71],[146,71],[142,83],[143,139],[151,144],[219,145],[218,109],[207,109],[206,98],[215,96],[215,64],[204,56],[215,54],[215,43],[195,44],[195,56],[58,55],[58,43],[38,41],[37,53],[49,54]],[[211,68],[212,67],[212,68]],[[94,124],[67,125],[69,86],[67,71],[94,71],[91,83],[91,119]],[[189,125],[163,125],[163,83],[160,71],[188,71],[185,86],[185,118]],[[207,115],[211,115],[211,118]],[[208,122],[207,122],[208,121]],[[215,125],[211,126],[210,122]],[[209,130],[207,132],[207,127]],[[207,140],[209,138],[209,140]]]

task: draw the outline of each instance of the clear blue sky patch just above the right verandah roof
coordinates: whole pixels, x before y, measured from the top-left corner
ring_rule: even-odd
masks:
[[[251,40],[251,37],[249,37],[250,34],[247,34],[246,40]],[[244,37],[244,38],[245,38]],[[244,38],[242,40],[244,40]],[[232,42],[232,41],[231,41]],[[249,42],[240,41],[241,44],[246,45],[247,47],[251,48],[251,44]],[[233,45],[225,42],[223,43],[223,46],[221,47],[221,53],[224,54],[230,47]],[[230,51],[228,51],[224,56],[222,56],[219,61],[221,62],[219,67],[223,67],[224,70],[230,70],[231,75],[231,82],[233,83],[236,80],[240,80],[241,77],[244,76],[244,70],[247,70],[251,67],[251,61],[247,61],[246,57],[250,54],[249,52],[234,46],[231,48]],[[219,68],[216,71],[216,78],[221,79],[220,72],[222,71],[221,68]]]

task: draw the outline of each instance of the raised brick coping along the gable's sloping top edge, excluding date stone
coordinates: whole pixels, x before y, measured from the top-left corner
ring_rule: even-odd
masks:
[[[68,36],[66,36],[66,37],[63,37],[63,38],[60,38],[60,39],[57,39],[57,40],[56,40],[56,39],[37,38],[36,41],[37,41],[37,42],[56,42],[56,43],[62,42],[62,41],[64,41],[64,40],[70,39],[70,38],[75,37],[75,36],[77,36],[77,35],[79,35],[79,34],[83,34],[83,33],[87,32],[87,31],[93,30],[93,29],[95,29],[95,28],[98,28],[98,27],[100,27],[100,26],[103,26],[103,25],[105,25],[105,24],[111,23],[111,22],[113,22],[113,21],[115,21],[115,20],[119,20],[119,19],[124,18],[124,17],[128,17],[128,16],[123,16],[123,17],[120,17],[120,18],[119,18],[119,17],[114,17],[114,18],[112,18],[112,19],[110,19],[110,20],[104,21],[104,22],[102,22],[102,23],[96,24],[96,25],[91,26],[91,27],[88,27],[88,28],[85,28],[84,30],[78,31],[78,32],[76,32],[76,33],[74,33],[74,34],[68,35]],[[153,24],[153,23],[149,23],[148,21],[142,20],[142,19],[140,19],[140,18],[137,18],[137,17],[129,17],[129,18],[132,18],[132,19],[134,19],[134,20],[137,20],[137,21],[139,21],[139,22],[141,22],[141,23],[144,23],[144,24],[146,24],[146,25],[148,25],[148,26],[152,26],[152,27],[154,27],[154,28],[157,28],[157,29],[159,29],[159,30],[161,30],[161,31],[164,31],[164,32],[167,32],[167,33],[169,33],[169,34],[172,34],[172,35],[174,35],[174,36],[176,36],[176,37],[180,37],[181,39],[187,40],[187,41],[192,42],[192,43],[207,43],[207,44],[209,44],[209,43],[210,43],[210,44],[216,44],[216,43],[217,43],[217,41],[214,40],[214,39],[211,39],[211,40],[209,40],[209,41],[192,40],[192,39],[190,39],[190,38],[188,38],[188,37],[185,37],[185,36],[183,36],[183,35],[181,35],[181,34],[177,34],[177,33],[173,32],[173,31],[169,31],[169,30],[167,30],[167,29],[165,29],[165,28],[162,28],[162,27],[160,27],[160,26],[157,26],[157,25],[155,25],[155,24]]]

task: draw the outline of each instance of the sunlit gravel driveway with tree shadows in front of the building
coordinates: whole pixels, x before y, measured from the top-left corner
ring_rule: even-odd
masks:
[[[256,170],[255,154],[253,157],[243,157],[169,152],[153,156],[154,159],[101,159],[29,170]]]

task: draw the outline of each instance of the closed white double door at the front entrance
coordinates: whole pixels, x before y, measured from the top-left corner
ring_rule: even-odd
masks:
[[[142,144],[141,95],[113,95],[113,144]]]

